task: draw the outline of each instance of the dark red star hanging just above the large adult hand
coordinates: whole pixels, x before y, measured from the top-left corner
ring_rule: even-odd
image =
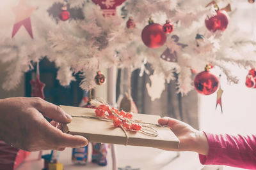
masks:
[[[40,81],[39,74],[37,74],[36,80],[30,81],[30,84],[32,87],[31,97],[41,97],[42,99],[45,99],[44,97],[45,83],[42,83],[42,81]]]

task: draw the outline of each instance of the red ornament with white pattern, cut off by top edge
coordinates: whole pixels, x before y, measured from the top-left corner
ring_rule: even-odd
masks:
[[[98,4],[103,11],[104,17],[111,17],[116,15],[116,6],[120,6],[125,0],[92,0],[93,3]]]

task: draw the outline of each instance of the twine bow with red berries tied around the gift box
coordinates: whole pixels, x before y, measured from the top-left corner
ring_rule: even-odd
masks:
[[[94,103],[95,104],[95,103]],[[141,132],[147,136],[157,137],[158,131],[153,126],[166,127],[159,124],[142,122],[141,120],[132,119],[132,113],[125,113],[124,111],[118,111],[115,108],[110,108],[107,104],[98,103],[95,110],[96,117],[93,116],[72,116],[77,118],[92,118],[102,120],[106,122],[113,122],[115,127],[120,127],[124,131],[126,142],[129,143],[129,136],[127,131]]]

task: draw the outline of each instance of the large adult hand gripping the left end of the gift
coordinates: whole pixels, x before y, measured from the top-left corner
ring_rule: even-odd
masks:
[[[44,118],[51,118],[51,123]],[[0,139],[29,152],[64,150],[86,146],[83,136],[72,136],[54,127],[67,124],[72,117],[59,106],[39,97],[12,97],[0,100]],[[54,126],[53,126],[54,125]]]

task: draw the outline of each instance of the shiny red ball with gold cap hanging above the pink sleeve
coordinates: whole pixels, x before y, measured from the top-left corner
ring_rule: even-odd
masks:
[[[219,87],[219,80],[214,76],[214,74],[209,73],[209,69],[211,69],[212,66],[207,64],[205,66],[205,71],[202,71],[201,73],[198,73],[194,80],[194,86],[197,92],[204,95],[209,95],[214,92]]]

